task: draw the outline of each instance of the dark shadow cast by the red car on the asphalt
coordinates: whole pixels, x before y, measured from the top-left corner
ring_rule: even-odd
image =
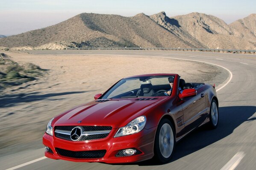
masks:
[[[194,130],[188,136],[185,136],[185,138],[177,143],[171,161],[180,159],[225,138],[243,122],[256,120],[255,117],[250,118],[255,112],[255,106],[220,107],[218,127],[214,130],[209,130],[207,126],[202,126]],[[152,159],[133,164],[139,166],[159,165],[159,163],[156,163]]]

